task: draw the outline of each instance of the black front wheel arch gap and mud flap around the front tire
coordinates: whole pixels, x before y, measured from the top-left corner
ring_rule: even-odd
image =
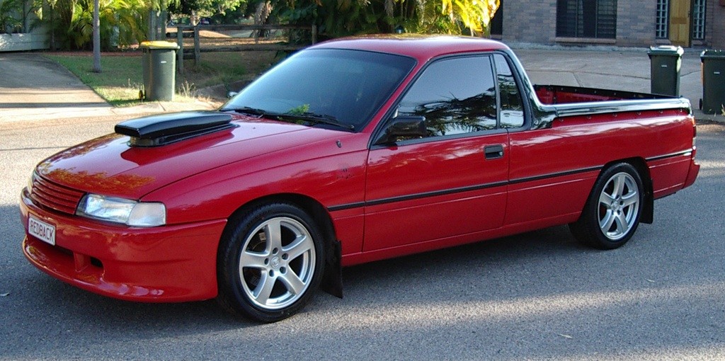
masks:
[[[316,199],[303,194],[294,193],[269,194],[257,199],[249,200],[249,202],[239,206],[228,217],[228,220],[230,221],[228,224],[233,223],[231,220],[241,217],[251,209],[254,209],[254,207],[276,202],[288,203],[299,207],[299,209],[307,212],[307,214],[312,217],[312,220],[315,221],[315,225],[320,228],[320,233],[323,234],[326,251],[325,272],[323,274],[322,282],[320,283],[320,289],[342,298],[342,247],[340,241],[337,240],[335,227],[330,213]]]

